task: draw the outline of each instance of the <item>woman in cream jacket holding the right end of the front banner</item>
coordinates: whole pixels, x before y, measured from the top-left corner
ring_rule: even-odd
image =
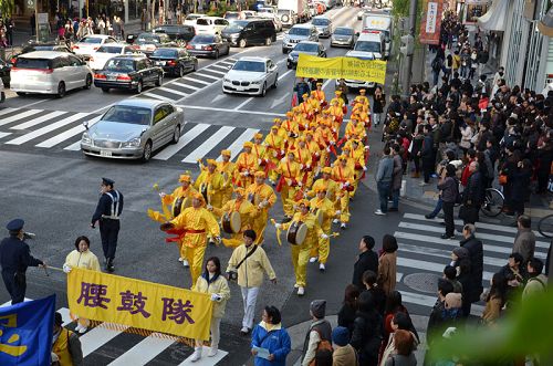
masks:
[[[221,261],[217,257],[211,257],[206,261],[204,273],[196,281],[194,291],[211,294],[213,302],[213,312],[211,313],[211,349],[208,357],[217,355],[219,349],[221,318],[225,315],[225,306],[230,299],[230,289],[227,279],[221,275]],[[201,339],[196,339],[191,362],[197,362],[201,358]]]

